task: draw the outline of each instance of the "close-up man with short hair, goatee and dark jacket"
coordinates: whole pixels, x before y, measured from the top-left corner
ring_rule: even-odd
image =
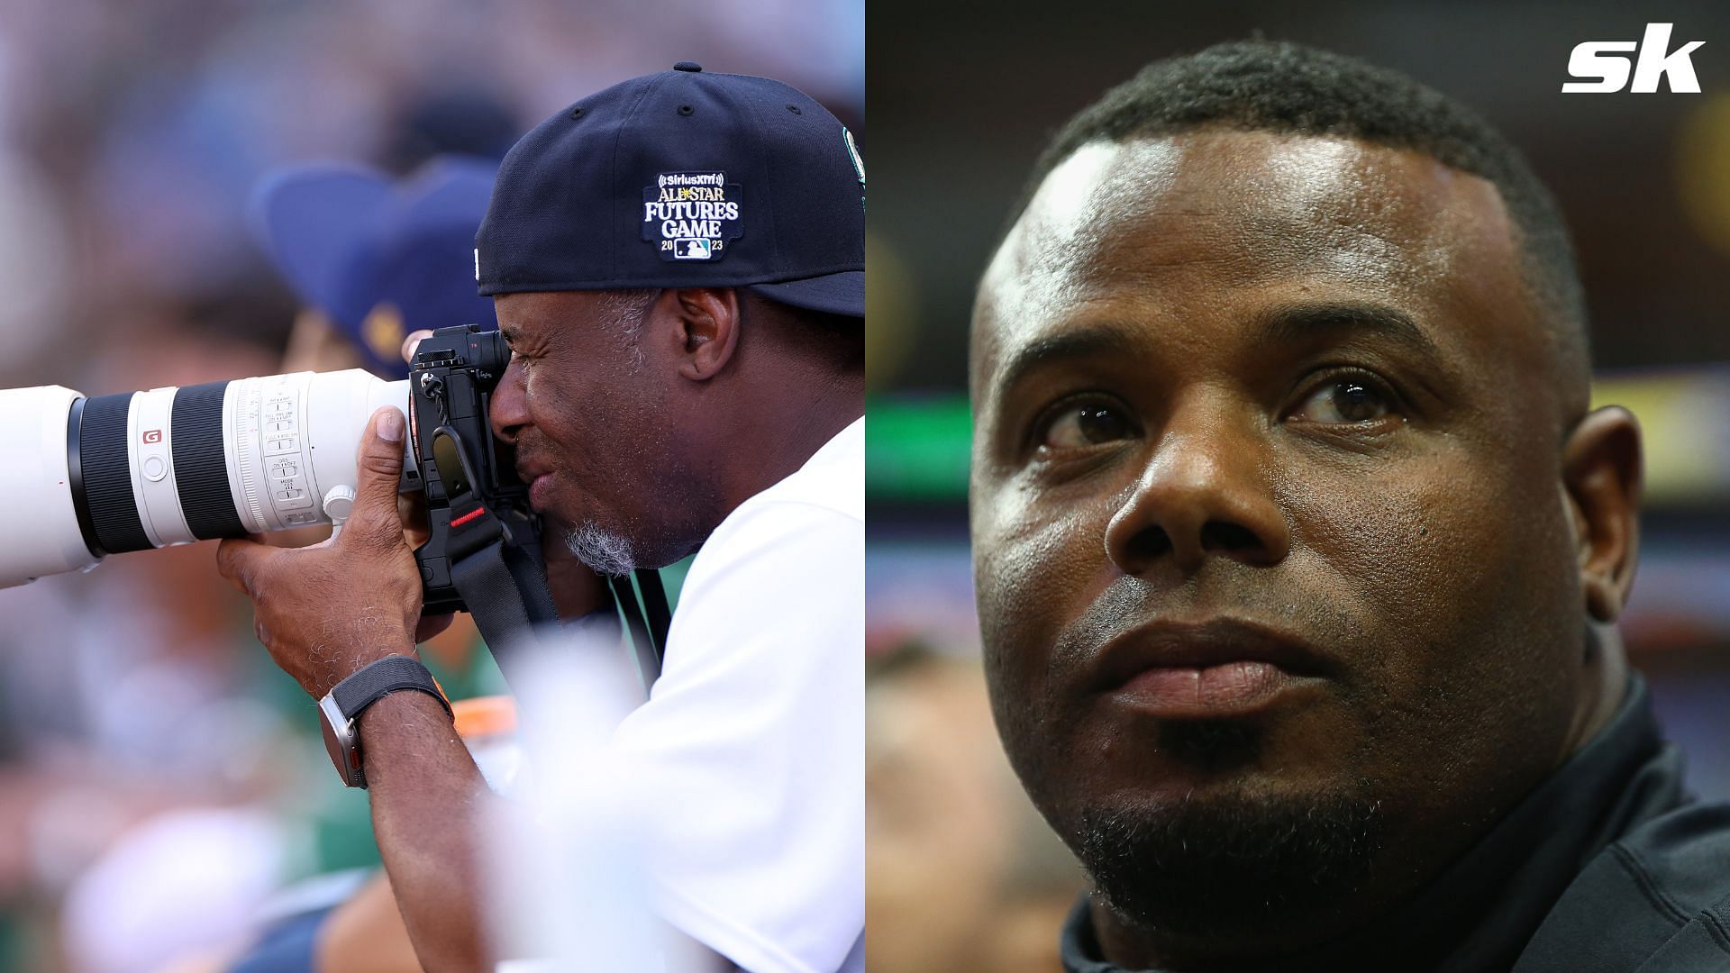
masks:
[[[1517,149],[1355,59],[1216,45],[1052,140],[971,518],[1003,746],[1093,880],[1066,970],[1730,968],[1581,291]]]

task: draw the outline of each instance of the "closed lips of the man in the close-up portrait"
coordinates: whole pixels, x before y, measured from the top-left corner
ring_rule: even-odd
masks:
[[[1218,718],[1266,708],[1313,686],[1329,660],[1296,635],[1253,622],[1159,620],[1095,653],[1090,689],[1161,718]]]

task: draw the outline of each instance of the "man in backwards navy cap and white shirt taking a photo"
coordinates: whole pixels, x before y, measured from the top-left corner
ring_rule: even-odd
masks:
[[[695,552],[611,750],[652,809],[659,914],[716,968],[863,968],[863,190],[820,104],[680,62],[529,132],[476,237],[514,353],[493,429],[585,566],[561,613]],[[368,424],[332,544],[218,556],[315,698],[415,658],[403,435],[391,409]],[[398,672],[422,691],[355,720],[374,831],[420,963],[483,968],[490,795],[436,687]]]

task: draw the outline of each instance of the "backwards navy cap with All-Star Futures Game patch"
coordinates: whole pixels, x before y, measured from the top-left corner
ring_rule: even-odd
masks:
[[[682,61],[524,135],[474,242],[483,294],[747,287],[865,317],[865,166],[803,92]]]

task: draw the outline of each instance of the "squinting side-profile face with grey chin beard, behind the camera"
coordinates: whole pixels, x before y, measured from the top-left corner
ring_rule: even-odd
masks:
[[[702,480],[670,419],[676,379],[644,348],[647,322],[621,320],[637,313],[625,305],[599,291],[497,300],[512,358],[493,428],[516,443],[531,506],[607,573],[666,566],[702,537],[687,516],[702,509]]]

